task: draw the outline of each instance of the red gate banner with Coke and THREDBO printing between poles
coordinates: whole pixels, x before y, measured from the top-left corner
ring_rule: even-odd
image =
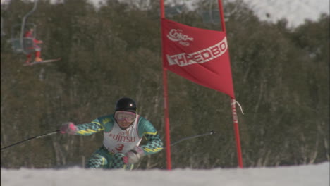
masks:
[[[161,19],[163,66],[204,87],[235,98],[226,32]]]

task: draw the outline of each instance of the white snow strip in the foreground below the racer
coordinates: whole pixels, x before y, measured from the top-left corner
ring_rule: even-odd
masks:
[[[152,169],[146,171],[66,169],[7,170],[1,185],[33,186],[329,186],[329,162],[276,168]]]

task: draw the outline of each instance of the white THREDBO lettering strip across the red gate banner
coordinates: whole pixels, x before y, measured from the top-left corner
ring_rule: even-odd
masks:
[[[169,36],[168,36],[169,37]],[[209,46],[207,49],[202,49],[190,54],[181,53],[172,56],[166,55],[169,66],[189,66],[195,63],[206,63],[218,58],[228,49],[227,39],[224,37],[221,42]]]

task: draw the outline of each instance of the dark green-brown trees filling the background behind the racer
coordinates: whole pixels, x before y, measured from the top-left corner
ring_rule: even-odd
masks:
[[[56,63],[22,66],[11,50],[11,26],[32,9],[30,1],[1,5],[1,147],[60,128],[89,123],[114,111],[121,97],[164,138],[159,2],[39,1],[27,22],[37,25],[42,58]],[[183,8],[168,17],[185,25],[221,30],[207,23],[208,1],[199,11]],[[170,7],[166,7],[168,12]],[[286,20],[259,20],[242,1],[224,1],[228,46],[245,167],[329,161],[329,15],[294,29]],[[171,148],[173,168],[236,167],[230,98],[169,75],[171,142],[200,135]],[[1,168],[84,166],[102,145],[103,134],[51,135],[1,151]],[[166,168],[161,151],[136,168]]]

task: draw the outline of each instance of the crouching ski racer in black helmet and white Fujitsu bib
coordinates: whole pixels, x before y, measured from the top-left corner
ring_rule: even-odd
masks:
[[[137,111],[135,101],[123,97],[117,101],[113,114],[99,117],[91,123],[65,123],[61,126],[61,133],[92,135],[103,130],[103,145],[88,159],[86,168],[133,169],[133,163],[142,156],[163,149],[157,130]],[[147,143],[139,146],[142,137],[147,139]]]

